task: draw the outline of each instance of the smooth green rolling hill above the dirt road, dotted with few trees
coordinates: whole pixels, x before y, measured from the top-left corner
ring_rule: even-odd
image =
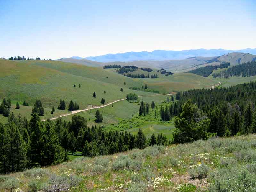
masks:
[[[0,99],[11,98],[13,104],[11,112],[15,111],[16,114],[21,113],[22,116],[27,117],[30,117],[31,106],[36,99],[42,101],[47,112],[44,116],[47,118],[68,112],[65,110],[50,114],[52,106],[57,108],[60,99],[65,100],[67,106],[70,100],[76,101],[80,109],[84,109],[89,105],[101,105],[101,98],[105,98],[107,104],[125,98],[126,94],[130,92],[135,92],[138,95],[154,94],[129,89],[130,87],[142,87],[145,84],[160,93],[192,88],[210,88],[217,84],[214,79],[183,73],[156,79],[135,79],[99,67],[60,61],[0,59],[0,67],[2,71],[0,74]],[[81,85],[81,88],[78,87],[78,84]],[[121,87],[124,92],[120,91]],[[96,98],[92,97],[93,92],[96,92]],[[15,103],[19,102],[21,105],[24,100],[30,106],[22,106],[20,110],[15,110]],[[3,117],[1,116],[1,118]]]

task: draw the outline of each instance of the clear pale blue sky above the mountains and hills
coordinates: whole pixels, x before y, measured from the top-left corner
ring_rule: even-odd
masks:
[[[256,48],[256,1],[0,0],[0,57]]]

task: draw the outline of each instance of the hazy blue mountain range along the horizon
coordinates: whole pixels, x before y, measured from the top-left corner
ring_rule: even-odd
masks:
[[[142,51],[142,52],[126,52],[126,53],[116,53],[116,54],[106,54],[95,57],[71,57],[72,59],[87,59],[97,62],[131,62],[131,61],[164,61],[164,60],[180,60],[190,57],[214,57],[231,52],[242,52],[256,54],[255,49],[241,49],[241,50],[226,50],[226,49],[191,49],[183,51],[166,51],[166,50],[155,50],[152,52]]]

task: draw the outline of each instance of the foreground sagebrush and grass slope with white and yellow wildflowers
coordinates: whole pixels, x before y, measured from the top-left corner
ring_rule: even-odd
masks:
[[[256,136],[189,144],[70,162],[0,176],[0,191],[255,191]],[[55,185],[60,183],[61,185]]]

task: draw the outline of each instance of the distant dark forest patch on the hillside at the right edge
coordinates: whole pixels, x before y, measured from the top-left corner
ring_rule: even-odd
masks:
[[[239,65],[235,65],[231,68],[228,68],[225,71],[220,71],[219,73],[214,73],[212,76],[214,78],[228,78],[232,76],[243,76],[250,77],[256,75],[256,61],[243,63]]]

